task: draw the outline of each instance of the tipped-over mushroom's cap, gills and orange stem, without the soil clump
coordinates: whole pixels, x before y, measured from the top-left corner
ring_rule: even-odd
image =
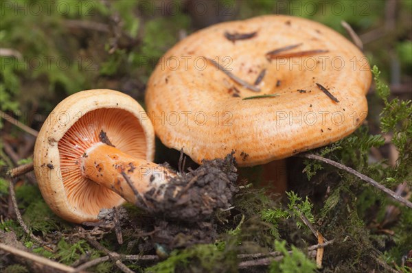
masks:
[[[82,91],[54,108],[36,139],[34,171],[56,214],[71,222],[95,221],[102,208],[124,198],[135,202],[122,174],[139,178],[139,192],[150,189],[155,134],[143,114],[134,99],[111,90]]]

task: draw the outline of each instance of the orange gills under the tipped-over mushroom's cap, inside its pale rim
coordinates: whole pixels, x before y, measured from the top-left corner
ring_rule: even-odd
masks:
[[[139,121],[122,109],[102,108],[87,112],[58,142],[60,168],[67,199],[74,209],[96,215],[102,208],[111,208],[122,198],[117,193],[84,178],[80,158],[91,145],[100,142],[104,131],[117,149],[146,158],[146,140]]]

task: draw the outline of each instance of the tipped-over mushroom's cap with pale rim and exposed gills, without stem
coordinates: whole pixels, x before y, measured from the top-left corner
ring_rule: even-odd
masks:
[[[155,134],[146,112],[132,97],[117,91],[82,91],[64,99],[43,124],[34,147],[34,171],[43,198],[71,222],[97,220],[102,208],[124,202],[114,191],[84,178],[80,158],[101,141],[135,158],[152,161]]]

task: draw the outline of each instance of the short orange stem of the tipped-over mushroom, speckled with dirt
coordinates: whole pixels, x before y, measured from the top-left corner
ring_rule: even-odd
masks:
[[[144,194],[148,191],[154,191],[152,196],[160,201],[167,188],[165,185],[175,176],[165,167],[135,158],[101,142],[84,152],[81,168],[82,176],[115,191],[133,204],[144,200]],[[130,182],[133,187],[129,185]]]

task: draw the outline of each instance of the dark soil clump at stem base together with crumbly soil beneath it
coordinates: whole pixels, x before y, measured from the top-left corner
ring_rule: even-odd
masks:
[[[172,178],[161,202],[146,193],[146,202],[152,204],[148,211],[155,217],[153,225],[159,230],[152,236],[152,242],[171,250],[214,241],[217,233],[213,213],[229,208],[238,191],[235,164],[233,153],[203,161],[197,169]],[[176,187],[183,190],[175,196]]]

